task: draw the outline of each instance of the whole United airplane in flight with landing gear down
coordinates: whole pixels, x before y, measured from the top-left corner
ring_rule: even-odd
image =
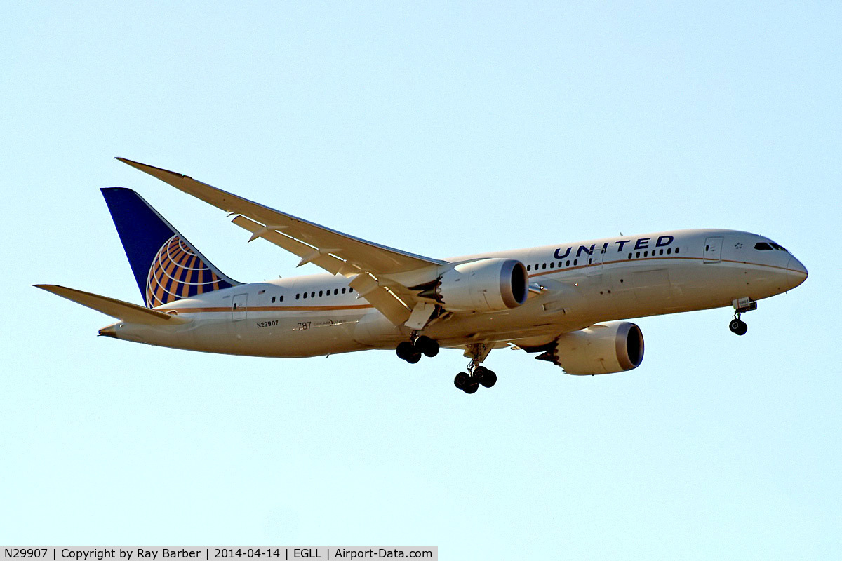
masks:
[[[514,347],[575,375],[641,365],[627,321],[733,307],[729,329],[760,299],[807,279],[790,251],[741,230],[670,230],[464,257],[423,257],[296,218],[192,177],[119,161],[234,216],[251,233],[327,273],[239,283],[129,188],[102,188],[145,305],[36,284],[118,321],[99,335],[153,346],[257,357],[389,349],[408,363],[441,347],[470,359],[454,385],[473,394]]]

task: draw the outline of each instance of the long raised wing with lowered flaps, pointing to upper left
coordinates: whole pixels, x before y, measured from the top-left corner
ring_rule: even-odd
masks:
[[[356,276],[350,283],[361,296],[398,325],[408,320],[417,294],[386,277],[436,267],[446,262],[360,240],[291,214],[270,209],[247,198],[201,183],[181,173],[118,157],[117,160],[157,177],[174,188],[200,198],[217,209],[237,214],[234,224],[301,257],[298,266],[313,263],[328,273]]]

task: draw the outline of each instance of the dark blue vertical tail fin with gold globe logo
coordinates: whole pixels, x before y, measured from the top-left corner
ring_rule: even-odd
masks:
[[[139,194],[122,187],[100,190],[147,308],[240,284],[196,251]]]

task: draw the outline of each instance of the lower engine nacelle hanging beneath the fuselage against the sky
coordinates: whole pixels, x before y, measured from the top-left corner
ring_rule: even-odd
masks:
[[[552,349],[552,362],[568,374],[632,370],[643,362],[643,332],[628,321],[610,321],[565,333]]]

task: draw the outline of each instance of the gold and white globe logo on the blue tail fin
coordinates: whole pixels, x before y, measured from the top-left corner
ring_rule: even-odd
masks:
[[[147,306],[155,308],[227,286],[179,236],[173,236],[149,267]]]

